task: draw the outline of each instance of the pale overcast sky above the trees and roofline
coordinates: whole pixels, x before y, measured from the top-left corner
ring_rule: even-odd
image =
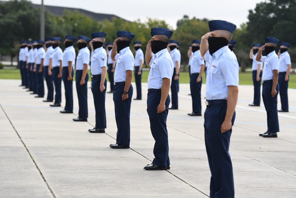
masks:
[[[165,20],[171,27],[186,14],[191,19],[220,19],[239,27],[247,22],[249,10],[265,0],[44,0],[44,5],[81,8],[95,13],[115,14],[128,21],[147,18]],[[32,0],[41,4],[41,0]]]

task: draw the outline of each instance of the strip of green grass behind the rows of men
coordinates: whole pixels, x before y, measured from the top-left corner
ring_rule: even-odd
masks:
[[[89,76],[90,76],[90,71]],[[144,70],[142,73],[142,82],[147,82],[149,71]],[[203,83],[205,83],[205,73],[202,75]],[[1,69],[0,70],[0,79],[20,79],[20,70],[18,69]],[[73,78],[75,80],[75,76]],[[91,78],[89,78],[91,81]],[[107,81],[108,81],[107,75]],[[133,78],[134,82],[134,78]],[[189,83],[189,74],[188,72],[180,72],[179,76],[180,83]],[[252,72],[240,72],[239,73],[239,84],[241,85],[252,85]],[[296,74],[290,74],[289,88],[296,89]]]

